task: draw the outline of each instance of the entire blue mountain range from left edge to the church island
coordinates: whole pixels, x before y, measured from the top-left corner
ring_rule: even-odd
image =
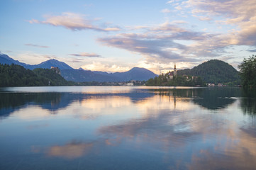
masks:
[[[50,69],[51,67],[58,67],[61,70],[61,75],[64,79],[68,81],[76,81],[76,82],[83,82],[83,81],[130,81],[130,80],[139,80],[139,81],[146,81],[150,78],[157,77],[157,74],[151,72],[148,69],[134,67],[130,69],[128,72],[115,72],[115,73],[108,73],[108,72],[99,72],[99,71],[89,71],[84,69],[73,69],[65,62],[60,62],[58,60],[48,60],[45,62],[41,62],[40,64],[26,64],[23,62],[19,62],[18,60],[13,60],[8,55],[0,55],[0,63],[1,64],[17,64],[25,67],[26,69],[36,69],[36,68],[43,68],[43,69]]]

